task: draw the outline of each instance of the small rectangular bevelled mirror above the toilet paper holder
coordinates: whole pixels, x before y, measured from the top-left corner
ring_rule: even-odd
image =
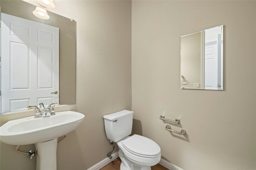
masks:
[[[223,25],[180,36],[180,88],[223,90]]]

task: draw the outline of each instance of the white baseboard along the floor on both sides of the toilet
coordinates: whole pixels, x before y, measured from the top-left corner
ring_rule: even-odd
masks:
[[[103,168],[104,166],[106,166],[107,164],[109,164],[110,162],[112,162],[113,160],[115,160],[116,158],[118,158],[118,151],[115,152],[114,154],[112,154],[112,158],[105,158],[104,160],[98,162],[97,164],[95,164],[94,166],[92,166],[91,168],[87,169],[87,170],[100,170],[101,168]],[[169,170],[182,170],[181,168],[179,168],[178,166],[164,160],[161,158],[160,165],[164,166],[165,168],[169,169]]]

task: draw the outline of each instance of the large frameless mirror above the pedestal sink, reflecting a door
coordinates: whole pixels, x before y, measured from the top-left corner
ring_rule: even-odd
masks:
[[[22,0],[1,4],[1,114],[76,102],[76,22]],[[40,6],[40,5],[38,5]]]

